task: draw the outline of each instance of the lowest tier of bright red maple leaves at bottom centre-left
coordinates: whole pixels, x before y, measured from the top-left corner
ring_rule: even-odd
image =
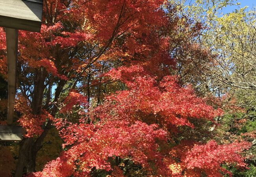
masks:
[[[87,176],[93,167],[96,169],[111,170],[109,157],[130,157],[135,163],[141,164],[150,170],[149,162],[161,163],[162,155],[158,152],[156,140],[166,141],[166,132],[158,129],[155,124],[147,125],[143,122],[129,124],[125,121],[105,121],[96,125],[71,125],[73,134],[69,133],[73,146],[56,160],[45,166],[40,174],[55,176],[69,176],[63,171],[63,166],[72,166],[72,174]],[[67,133],[62,136],[67,140]],[[59,162],[59,160],[63,161]],[[77,160],[79,159],[79,160]],[[79,167],[75,171],[75,166]],[[71,168],[69,168],[71,169]]]

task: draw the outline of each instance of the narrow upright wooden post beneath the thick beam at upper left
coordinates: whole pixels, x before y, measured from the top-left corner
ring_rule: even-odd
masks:
[[[16,94],[16,73],[18,58],[18,30],[6,28],[7,76],[8,76],[8,113],[7,124],[13,123]]]

